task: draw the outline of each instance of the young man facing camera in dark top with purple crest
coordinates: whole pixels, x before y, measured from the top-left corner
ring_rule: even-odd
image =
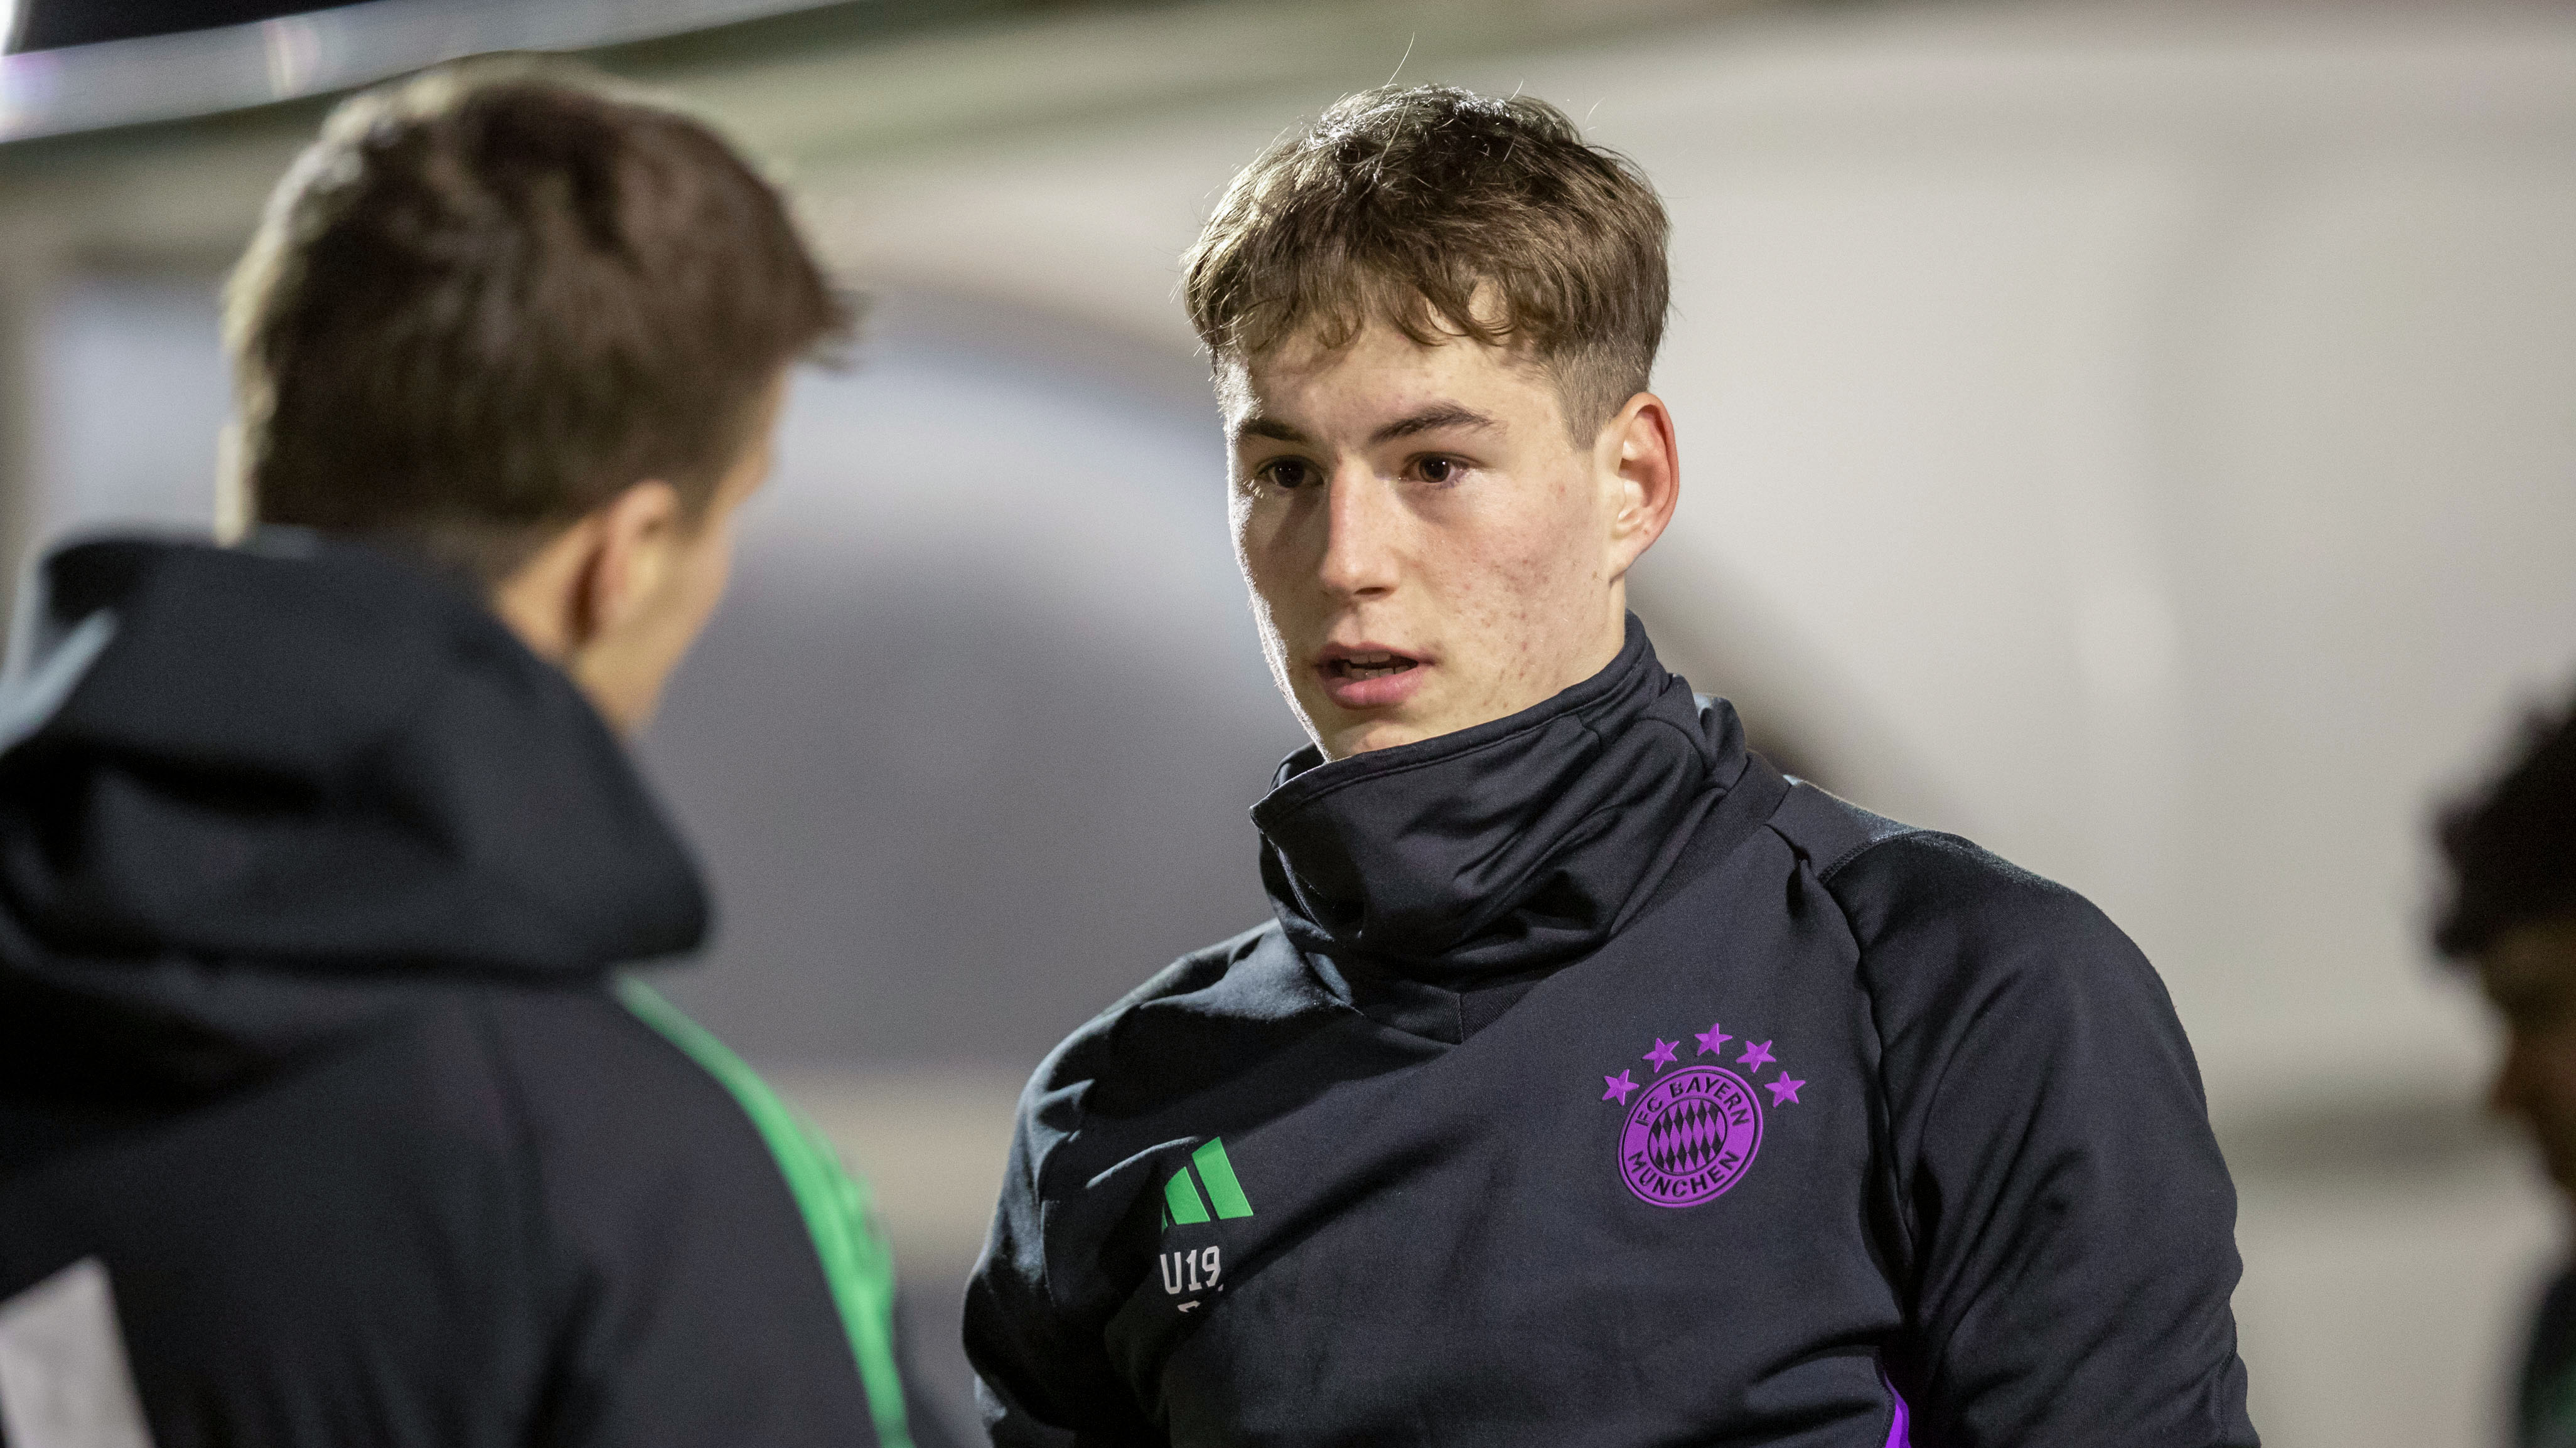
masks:
[[[1535,100],[1342,100],[1188,260],[1314,747],[1275,922],[1038,1069],[1002,1445],[2249,1445],[2233,1190],[2099,912],[1747,755],[1625,613],[1664,211]]]

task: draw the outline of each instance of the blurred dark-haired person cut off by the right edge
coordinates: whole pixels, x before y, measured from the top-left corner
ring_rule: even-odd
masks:
[[[2535,716],[2504,773],[2442,819],[2452,897],[2434,930],[2504,1018],[2494,1105],[2576,1196],[2576,706]],[[2576,1268],[2540,1304],[2514,1443],[2576,1448]]]

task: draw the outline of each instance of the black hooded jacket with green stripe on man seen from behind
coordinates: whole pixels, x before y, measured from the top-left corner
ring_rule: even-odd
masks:
[[[721,1046],[621,1002],[611,969],[698,946],[706,897],[556,667],[296,533],[67,549],[28,642],[13,1448],[907,1435]]]

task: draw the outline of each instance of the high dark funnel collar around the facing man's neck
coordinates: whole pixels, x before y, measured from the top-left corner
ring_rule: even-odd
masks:
[[[1540,971],[1618,933],[1741,770],[1734,709],[1703,709],[1631,613],[1602,672],[1510,719],[1288,755],[1252,806],[1262,884],[1288,938],[1345,966]]]

